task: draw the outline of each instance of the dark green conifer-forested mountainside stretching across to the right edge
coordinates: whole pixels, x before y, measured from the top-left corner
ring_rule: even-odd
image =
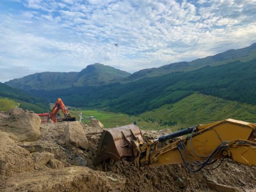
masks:
[[[130,115],[175,103],[194,92],[255,105],[255,71],[256,59],[147,77],[126,84],[31,92],[52,102],[61,97],[68,105],[120,111]]]

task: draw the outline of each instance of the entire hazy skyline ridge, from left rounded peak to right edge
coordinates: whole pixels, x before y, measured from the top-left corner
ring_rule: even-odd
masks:
[[[161,76],[176,72],[194,71],[206,66],[225,65],[237,60],[256,58],[256,43],[242,49],[232,49],[213,56],[170,63],[158,68],[143,69],[133,74],[100,63],[88,65],[80,72],[42,72],[12,79],[5,84],[24,90],[56,90],[70,87],[101,86],[111,83],[129,83],[145,77]]]

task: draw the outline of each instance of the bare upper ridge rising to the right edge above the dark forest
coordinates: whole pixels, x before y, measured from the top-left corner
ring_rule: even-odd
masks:
[[[175,62],[159,68],[143,69],[125,78],[125,82],[136,81],[143,77],[160,76],[172,72],[193,71],[205,66],[223,65],[236,60],[249,61],[256,58],[256,43],[243,49],[229,50],[214,56],[196,59],[190,62]]]

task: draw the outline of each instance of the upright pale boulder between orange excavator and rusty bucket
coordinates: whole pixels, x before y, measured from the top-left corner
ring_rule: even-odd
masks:
[[[83,127],[78,121],[70,122],[64,130],[65,143],[68,147],[88,148],[88,140]]]

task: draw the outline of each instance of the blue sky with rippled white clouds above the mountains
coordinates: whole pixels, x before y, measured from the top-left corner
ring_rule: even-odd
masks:
[[[132,73],[254,42],[256,0],[0,0],[0,82],[93,63]]]

